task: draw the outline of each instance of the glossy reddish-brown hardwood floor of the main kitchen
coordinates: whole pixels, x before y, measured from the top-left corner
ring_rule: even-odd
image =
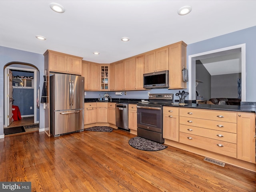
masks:
[[[133,134],[33,132],[0,139],[0,181],[31,181],[37,192],[255,192],[256,173],[168,148],[132,148]]]

